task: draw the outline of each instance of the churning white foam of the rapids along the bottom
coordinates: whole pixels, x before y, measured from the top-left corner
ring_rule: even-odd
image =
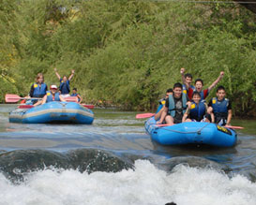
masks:
[[[11,205],[255,205],[256,184],[241,175],[229,178],[210,168],[176,166],[171,173],[146,160],[135,170],[81,173],[44,169],[10,183],[0,174],[0,204]]]

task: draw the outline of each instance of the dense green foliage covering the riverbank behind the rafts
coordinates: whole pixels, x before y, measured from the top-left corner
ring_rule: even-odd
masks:
[[[0,31],[1,101],[56,66],[87,102],[154,110],[186,67],[205,87],[224,70],[233,110],[256,115],[256,15],[237,4],[0,0]]]

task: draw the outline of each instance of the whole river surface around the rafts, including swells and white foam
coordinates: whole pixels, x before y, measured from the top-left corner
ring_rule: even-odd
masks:
[[[153,142],[136,112],[91,125],[10,124],[0,105],[0,204],[255,205],[256,122],[229,149]]]

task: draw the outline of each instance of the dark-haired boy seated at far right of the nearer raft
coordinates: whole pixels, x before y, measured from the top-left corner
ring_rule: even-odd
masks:
[[[230,125],[232,119],[232,104],[226,96],[223,86],[218,86],[217,97],[213,97],[208,104],[208,112],[214,113],[214,122],[219,125]]]

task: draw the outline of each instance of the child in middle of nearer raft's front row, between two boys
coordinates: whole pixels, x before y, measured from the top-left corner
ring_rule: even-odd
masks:
[[[200,93],[195,91],[192,95],[192,102],[190,108],[186,110],[183,115],[182,122],[207,122],[206,118],[208,106],[204,100],[201,99]]]

